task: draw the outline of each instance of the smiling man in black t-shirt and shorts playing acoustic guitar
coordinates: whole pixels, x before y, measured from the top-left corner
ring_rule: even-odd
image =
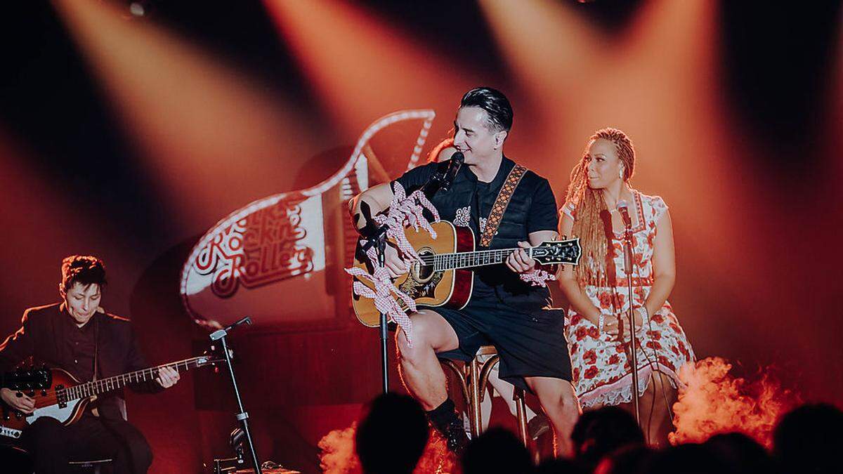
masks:
[[[512,122],[512,108],[501,92],[477,88],[464,94],[454,120],[454,148],[464,154],[465,165],[448,191],[431,199],[443,220],[470,227],[478,245],[489,249],[527,248],[558,237],[556,200],[548,181],[503,155]],[[417,167],[396,181],[409,193],[430,180],[438,166]],[[370,222],[372,216],[392,202],[391,185],[373,186],[352,200],[352,218],[363,234],[376,227]],[[495,204],[507,188],[510,200],[501,213]],[[409,270],[407,259],[393,245],[387,245],[385,265],[393,277]],[[478,347],[493,344],[501,357],[501,378],[539,397],[555,429],[560,454],[570,454],[569,437],[579,405],[571,385],[563,313],[547,309],[548,288],[519,278],[535,267],[535,261],[518,250],[507,258],[506,267],[478,269],[464,308],[420,308],[410,315],[412,343],[403,330],[396,335],[402,380],[454,451],[459,452],[467,438],[454,402],[448,399],[438,356],[468,361]]]

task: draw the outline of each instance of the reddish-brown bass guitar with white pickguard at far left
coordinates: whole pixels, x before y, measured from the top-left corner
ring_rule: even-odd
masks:
[[[47,379],[50,382],[49,384],[41,386],[19,385],[19,388],[23,389],[27,396],[35,399],[35,411],[25,414],[8,407],[5,403],[0,403],[3,406],[3,417],[0,418],[0,436],[13,439],[20,438],[24,428],[40,417],[53,417],[67,426],[82,417],[84,408],[88,406],[90,401],[94,401],[96,396],[119,390],[126,385],[154,380],[158,377],[158,369],[163,367],[183,371],[211,365],[222,360],[222,358],[216,356],[203,355],[85,383],[80,383],[63,369],[47,369],[49,371],[49,379]]]

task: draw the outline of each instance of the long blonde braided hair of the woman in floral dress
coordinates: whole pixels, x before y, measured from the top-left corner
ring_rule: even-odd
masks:
[[[583,158],[571,170],[571,184],[568,185],[566,201],[574,205],[572,234],[580,238],[583,248],[583,265],[576,268],[577,281],[585,286],[589,280],[597,286],[607,286],[606,264],[609,254],[609,239],[601,214],[608,213],[602,189],[588,187],[588,147],[594,140],[603,138],[615,143],[615,150],[624,164],[624,180],[628,181],[635,172],[635,148],[626,133],[616,128],[604,128],[588,139]]]

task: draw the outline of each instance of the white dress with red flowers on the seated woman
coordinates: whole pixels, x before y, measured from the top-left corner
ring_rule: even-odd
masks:
[[[647,196],[634,191],[637,226],[632,229],[633,308],[642,306],[652,289],[652,251],[656,237],[656,223],[668,209],[661,197]],[[562,212],[574,218],[574,205],[567,202]],[[586,285],[585,293],[592,303],[604,312],[626,317],[629,310],[629,287],[624,271],[623,234],[615,233],[610,256],[615,272],[615,285],[598,287]],[[596,279],[591,276],[591,280]],[[679,326],[674,311],[667,301],[661,310],[650,316],[649,324],[636,334],[638,341],[638,388],[647,390],[650,374],[660,369],[670,378],[672,385],[680,385],[677,372],[683,364],[693,362],[694,351]],[[618,342],[607,333],[600,334],[598,327],[577,314],[573,309],[566,316],[566,339],[571,352],[573,382],[583,407],[618,405],[632,401],[632,372],[626,357],[628,343]]]

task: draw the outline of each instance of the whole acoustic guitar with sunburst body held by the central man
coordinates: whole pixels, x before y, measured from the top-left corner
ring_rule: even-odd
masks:
[[[432,227],[436,231],[436,239],[424,229],[405,229],[407,240],[421,257],[421,262],[412,262],[410,271],[393,282],[396,288],[408,294],[418,305],[445,306],[458,310],[464,308],[474,288],[474,272],[471,268],[503,263],[513,251],[520,248],[475,250],[474,231],[469,227],[454,226],[448,221],[433,223]],[[577,265],[582,252],[579,238],[548,240],[524,250],[542,265]],[[359,243],[354,255],[354,266],[371,273],[371,263]],[[373,288],[368,280],[355,277],[355,281]],[[405,306],[401,299],[396,301],[402,307]],[[357,320],[362,324],[379,326],[380,312],[373,299],[352,293],[352,307]]]

